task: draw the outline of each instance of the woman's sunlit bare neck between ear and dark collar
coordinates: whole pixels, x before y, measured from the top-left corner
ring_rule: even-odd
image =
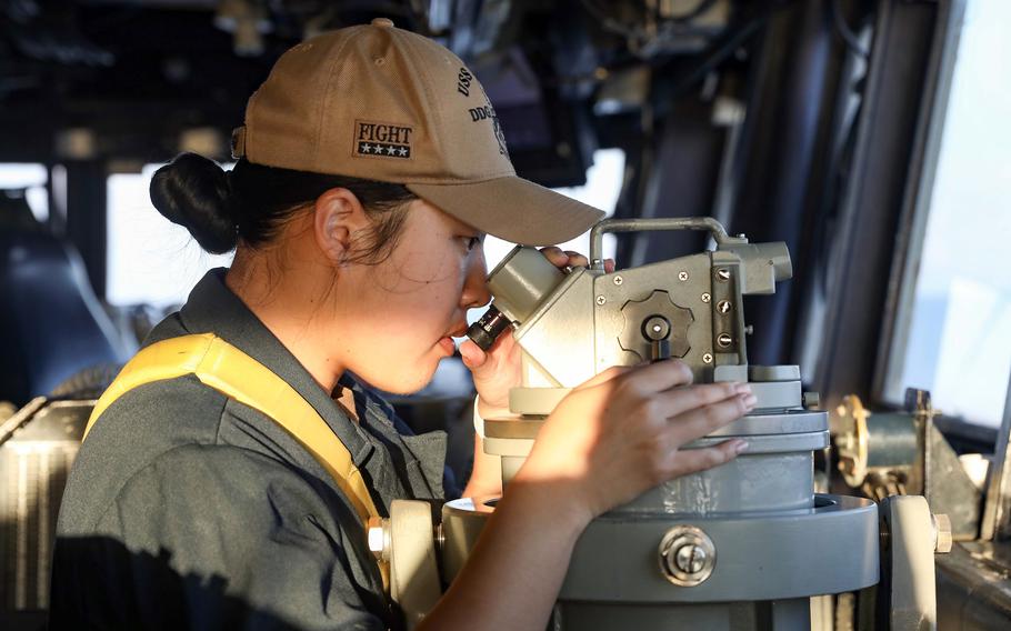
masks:
[[[320,291],[312,274],[301,273],[298,266],[279,266],[268,260],[270,257],[240,246],[224,283],[320,387],[332,393],[344,365],[330,352],[338,345],[333,343],[333,323],[329,321],[324,325],[328,319],[321,318],[332,306],[319,297],[329,292]],[[283,271],[278,273],[278,270]]]

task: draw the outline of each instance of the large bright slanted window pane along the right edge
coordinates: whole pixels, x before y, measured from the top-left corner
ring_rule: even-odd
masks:
[[[997,427],[1011,372],[1011,2],[969,2],[922,250],[908,273],[884,395],[930,390],[945,415]],[[904,345],[904,348],[903,348]],[[897,361],[898,360],[898,361]]]

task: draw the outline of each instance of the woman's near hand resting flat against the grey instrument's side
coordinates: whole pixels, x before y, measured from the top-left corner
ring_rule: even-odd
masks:
[[[662,482],[732,460],[744,441],[681,448],[752,410],[751,389],[691,380],[678,360],[598,374],[548,417],[512,483],[553,488],[588,523]]]

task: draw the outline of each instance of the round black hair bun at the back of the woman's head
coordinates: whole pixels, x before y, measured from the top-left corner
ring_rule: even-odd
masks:
[[[206,251],[221,254],[238,244],[228,173],[214,161],[182,153],[154,172],[150,190],[158,212],[189,230]]]

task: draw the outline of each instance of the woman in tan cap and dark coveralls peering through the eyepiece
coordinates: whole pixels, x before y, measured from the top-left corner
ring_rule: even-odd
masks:
[[[250,99],[234,152],[227,174],[189,154],[152,181],[159,211],[236,258],[131,364],[196,340],[227,350],[211,377],[238,362],[256,378],[221,385],[190,367],[121,375],[107,392],[61,507],[53,627],[399,627],[361,520],[396,498],[441,499],[444,439],[410,435],[369,387],[416,391],[453,352],[467,309],[489,300],[484,233],[545,244],[600,218],[517,178],[473,76],[388,20],[286,53]],[[508,412],[511,339],[461,353],[481,415]],[[173,357],[151,361],[171,369]],[[754,398],[690,381],[680,362],[660,362],[608,370],[567,397],[423,625],[543,629],[591,519],[734,458],[741,441],[679,448]],[[290,407],[261,400],[278,389],[323,423],[320,441],[339,439],[344,469],[284,424]],[[500,491],[496,473],[479,441],[464,493]]]

